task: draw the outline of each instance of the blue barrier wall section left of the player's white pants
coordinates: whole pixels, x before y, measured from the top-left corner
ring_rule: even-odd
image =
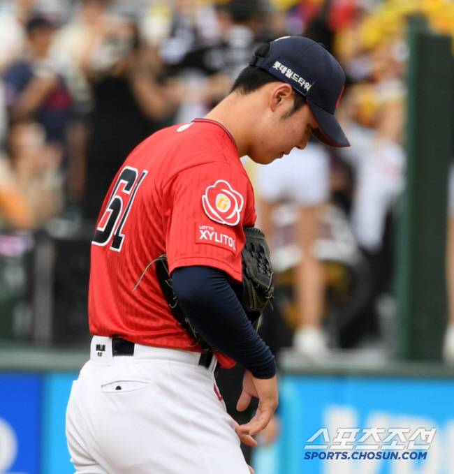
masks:
[[[0,374],[0,473],[73,474],[65,413],[77,373]]]

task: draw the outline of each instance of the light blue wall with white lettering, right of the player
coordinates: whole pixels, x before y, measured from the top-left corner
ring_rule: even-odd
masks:
[[[276,474],[454,473],[454,380],[284,376],[280,394],[282,430]],[[390,441],[374,443],[379,445],[378,449],[371,450],[362,446],[372,444],[371,437],[357,443],[365,433],[363,429],[371,427],[385,429],[380,434],[381,441],[390,436],[391,428],[409,431],[401,431],[404,440],[398,435],[393,437],[395,447]],[[351,438],[354,441],[339,447],[342,441],[333,443],[339,428],[360,431]],[[409,439],[418,428],[437,431],[432,443],[425,443],[418,435],[414,449],[409,449]],[[326,438],[321,432],[308,443],[320,429],[325,429]],[[349,438],[349,433],[344,432],[344,438]],[[319,445],[328,448],[316,448]],[[339,459],[326,459],[330,451],[344,452],[346,459],[340,459],[342,455]],[[371,452],[370,457],[374,458],[381,452],[381,459],[353,459],[361,451]],[[413,451],[419,459],[403,459],[404,452]],[[312,454],[314,452],[317,454]],[[356,452],[354,456],[353,452]],[[397,459],[383,459],[383,453],[387,453],[384,454],[387,457],[390,452],[397,453]]]

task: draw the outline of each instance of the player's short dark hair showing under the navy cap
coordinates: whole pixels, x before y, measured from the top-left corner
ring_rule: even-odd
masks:
[[[254,54],[258,57],[264,58],[269,51],[270,43],[267,43],[265,45],[259,46]],[[233,82],[230,92],[237,91],[239,94],[247,95],[256,91],[257,89],[260,89],[265,84],[269,84],[270,82],[281,81],[274,77],[274,75],[264,71],[258,66],[246,66],[235,79],[235,82]],[[293,98],[293,108],[288,112],[288,117],[294,114],[297,110],[300,110],[300,108],[302,108],[302,106],[306,103],[306,99],[295,90],[293,91]]]

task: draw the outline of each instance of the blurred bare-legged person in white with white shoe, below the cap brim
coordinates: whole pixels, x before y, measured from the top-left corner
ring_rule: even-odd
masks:
[[[281,253],[285,247],[282,239],[279,245],[279,216],[276,214],[283,202],[296,205],[295,235],[290,247],[290,265],[295,265],[293,346],[311,358],[323,357],[328,351],[323,332],[325,275],[315,244],[321,236],[321,212],[330,197],[329,166],[327,149],[310,140],[304,151],[293,149],[284,159],[262,166],[256,176],[258,216],[277,270],[284,269],[289,262]]]

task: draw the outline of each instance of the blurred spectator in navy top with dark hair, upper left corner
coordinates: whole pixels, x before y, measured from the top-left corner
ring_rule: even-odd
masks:
[[[8,116],[10,121],[38,121],[45,130],[46,141],[64,150],[73,100],[49,55],[54,24],[38,15],[27,22],[26,30],[29,53],[5,72]]]

